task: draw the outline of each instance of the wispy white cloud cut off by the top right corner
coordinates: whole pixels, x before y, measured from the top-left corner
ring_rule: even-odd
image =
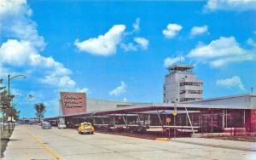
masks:
[[[256,10],[255,0],[208,0],[206,10]]]

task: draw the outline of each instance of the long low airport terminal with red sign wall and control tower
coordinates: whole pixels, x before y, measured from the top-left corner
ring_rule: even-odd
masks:
[[[164,84],[164,103],[137,103],[87,98],[85,93],[61,92],[60,115],[70,128],[90,121],[104,129],[137,129],[166,134],[256,133],[256,94],[202,99],[202,81],[193,66],[172,66]],[[196,85],[191,85],[195,84]],[[167,121],[168,119],[168,121]]]

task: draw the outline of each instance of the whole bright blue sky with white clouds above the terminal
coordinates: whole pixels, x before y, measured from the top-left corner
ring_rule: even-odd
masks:
[[[11,82],[21,117],[37,102],[57,115],[60,91],[162,102],[177,60],[195,65],[204,98],[256,88],[255,1],[1,3],[0,77],[27,75]]]

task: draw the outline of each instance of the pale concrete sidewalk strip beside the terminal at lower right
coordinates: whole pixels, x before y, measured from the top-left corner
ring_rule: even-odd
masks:
[[[240,151],[256,152],[256,142],[235,141],[235,140],[216,140],[205,138],[177,138],[174,142],[194,144],[200,146],[221,147],[226,149],[235,149]]]

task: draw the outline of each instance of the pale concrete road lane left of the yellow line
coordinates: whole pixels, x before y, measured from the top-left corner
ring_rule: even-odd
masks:
[[[55,159],[41,146],[24,126],[16,126],[9,139],[6,151],[3,152],[4,160],[19,159]]]

